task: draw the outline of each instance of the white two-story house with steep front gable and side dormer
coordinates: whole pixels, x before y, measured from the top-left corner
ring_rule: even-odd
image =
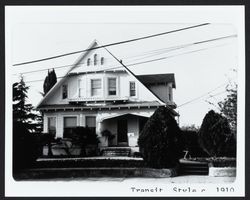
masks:
[[[134,75],[94,41],[67,74],[37,106],[43,112],[44,132],[64,137],[64,129],[88,126],[100,136],[100,147],[136,147],[146,120],[161,106],[174,116],[174,74]],[[101,135],[115,135],[107,143]]]

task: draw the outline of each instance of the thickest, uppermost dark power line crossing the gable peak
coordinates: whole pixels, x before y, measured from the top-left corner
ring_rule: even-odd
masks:
[[[144,36],[144,37],[139,37],[139,38],[135,38],[135,39],[131,39],[131,40],[125,40],[125,41],[121,41],[121,42],[115,42],[115,43],[106,44],[106,45],[102,45],[102,46],[98,46],[98,47],[93,47],[93,48],[89,48],[89,49],[85,49],[85,50],[80,50],[80,51],[75,51],[75,52],[71,52],[71,53],[60,54],[60,55],[57,55],[57,56],[42,58],[42,59],[33,60],[33,61],[16,63],[13,66],[27,65],[27,64],[31,64],[31,63],[42,62],[42,61],[46,61],[46,60],[52,60],[52,59],[55,59],[55,58],[60,58],[60,57],[69,56],[69,55],[73,55],[73,54],[83,53],[83,52],[86,52],[86,51],[90,51],[90,50],[94,50],[94,49],[99,49],[99,48],[103,48],[103,47],[109,47],[109,46],[114,46],[114,45],[119,45],[119,44],[125,44],[125,43],[129,43],[129,42],[135,42],[135,41],[144,40],[144,39],[148,39],[148,38],[158,37],[158,36],[166,35],[166,34],[170,34],[170,33],[180,32],[180,31],[184,31],[184,30],[188,30],[188,29],[192,29],[192,28],[198,28],[198,27],[201,27],[201,26],[209,25],[209,24],[210,23],[203,23],[203,24],[199,24],[199,25],[195,25],[195,26],[188,26],[188,27],[181,28],[181,29],[175,29],[175,30],[172,30],[172,31],[167,31],[167,32],[153,34],[153,35]]]

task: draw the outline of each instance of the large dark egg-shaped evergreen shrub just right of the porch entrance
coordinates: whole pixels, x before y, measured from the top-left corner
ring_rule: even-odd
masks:
[[[167,108],[158,108],[141,131],[138,145],[149,167],[169,168],[183,156],[181,130]]]

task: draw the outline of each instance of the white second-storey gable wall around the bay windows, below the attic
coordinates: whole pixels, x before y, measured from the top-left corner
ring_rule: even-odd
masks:
[[[108,95],[108,78],[117,78],[117,95]],[[102,92],[99,96],[91,96],[91,80],[101,79]],[[99,100],[99,99],[129,99],[131,101],[156,101],[156,97],[148,91],[138,80],[130,76],[126,72],[117,73],[97,73],[97,74],[82,74],[68,77],[63,85],[68,85],[68,99],[77,99],[79,97],[79,83],[82,81],[83,95],[80,100]],[[130,97],[129,82],[134,81],[136,87],[136,95]],[[160,90],[161,92],[161,90]],[[163,90],[164,92],[164,90]],[[62,99],[62,87],[51,95],[44,104],[68,104],[68,99]]]

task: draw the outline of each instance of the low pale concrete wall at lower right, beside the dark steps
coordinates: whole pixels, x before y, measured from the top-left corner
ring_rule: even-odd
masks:
[[[236,177],[236,167],[209,167],[209,176]]]

